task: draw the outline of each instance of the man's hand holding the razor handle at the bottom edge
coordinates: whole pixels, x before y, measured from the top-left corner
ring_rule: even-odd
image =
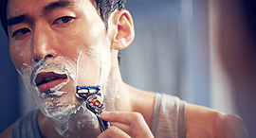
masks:
[[[138,112],[102,112],[101,118],[105,121],[116,122],[129,126],[136,138],[154,138],[143,116]],[[98,138],[117,137],[129,138],[131,136],[115,126],[111,126],[98,136]]]

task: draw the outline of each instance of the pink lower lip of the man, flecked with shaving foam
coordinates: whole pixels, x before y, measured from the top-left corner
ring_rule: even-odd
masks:
[[[37,86],[39,92],[44,93],[47,92],[49,89],[54,88],[55,86],[65,82],[67,80],[67,78],[59,78],[44,84],[41,84],[39,86]]]

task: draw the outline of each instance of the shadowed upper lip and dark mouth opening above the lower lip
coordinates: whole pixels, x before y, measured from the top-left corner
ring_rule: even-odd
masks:
[[[35,78],[36,86],[42,85],[44,83],[59,79],[59,78],[67,78],[66,75],[56,74],[54,72],[42,72],[39,73]]]

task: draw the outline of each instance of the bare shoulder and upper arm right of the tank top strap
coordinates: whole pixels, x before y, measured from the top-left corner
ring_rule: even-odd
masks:
[[[233,114],[187,104],[187,137],[246,138],[247,130],[242,119]]]

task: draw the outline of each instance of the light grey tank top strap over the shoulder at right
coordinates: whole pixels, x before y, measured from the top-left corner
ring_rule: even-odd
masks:
[[[155,94],[151,130],[155,138],[185,138],[185,101],[166,94]]]

